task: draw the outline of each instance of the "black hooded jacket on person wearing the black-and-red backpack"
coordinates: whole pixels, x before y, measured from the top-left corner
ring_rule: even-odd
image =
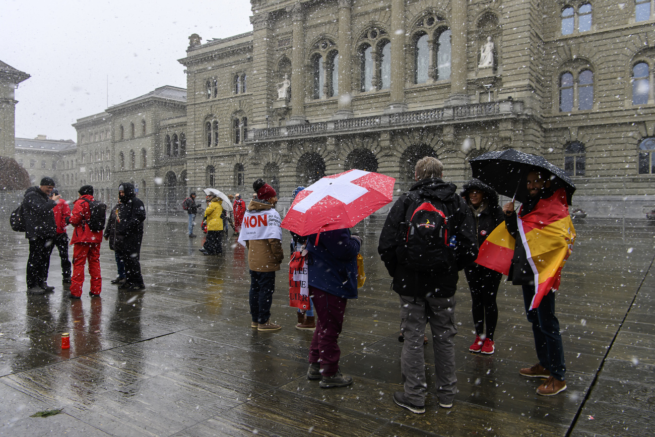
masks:
[[[409,193],[403,193],[394,206],[391,207],[377,248],[384,267],[394,280],[393,290],[404,296],[426,297],[451,297],[457,289],[458,273],[425,273],[415,271],[412,266],[398,262],[396,249],[402,242],[401,235],[398,235],[400,223],[409,221],[413,210],[409,210],[415,201],[410,198],[418,196],[422,200],[438,199],[444,202],[450,214],[447,221],[451,223],[451,235],[457,239],[455,258],[457,259],[457,270],[464,269],[477,257],[477,241],[475,236],[475,223],[471,210],[464,199],[456,194],[457,187],[454,183],[447,183],[439,178],[428,178],[418,181],[409,189]],[[418,205],[416,205],[418,206]]]

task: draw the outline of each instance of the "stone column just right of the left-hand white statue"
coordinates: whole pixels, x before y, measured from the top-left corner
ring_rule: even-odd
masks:
[[[291,117],[288,124],[301,124],[305,117],[305,12],[301,3],[291,7]]]

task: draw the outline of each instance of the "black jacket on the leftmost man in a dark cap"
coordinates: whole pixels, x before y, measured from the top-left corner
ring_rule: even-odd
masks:
[[[54,238],[57,225],[54,222],[52,208],[57,202],[48,199],[48,195],[39,187],[29,187],[23,197],[23,219],[25,220],[25,238]]]

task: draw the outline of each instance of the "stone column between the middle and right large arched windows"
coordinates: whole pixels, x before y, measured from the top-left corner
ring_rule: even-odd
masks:
[[[463,0],[462,0],[463,1]],[[391,2],[391,96],[385,112],[402,112],[405,103],[405,0]]]

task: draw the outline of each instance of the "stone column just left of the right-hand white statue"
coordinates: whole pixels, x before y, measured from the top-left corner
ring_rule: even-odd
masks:
[[[451,1],[451,95],[448,105],[468,104],[466,94],[466,0]]]

